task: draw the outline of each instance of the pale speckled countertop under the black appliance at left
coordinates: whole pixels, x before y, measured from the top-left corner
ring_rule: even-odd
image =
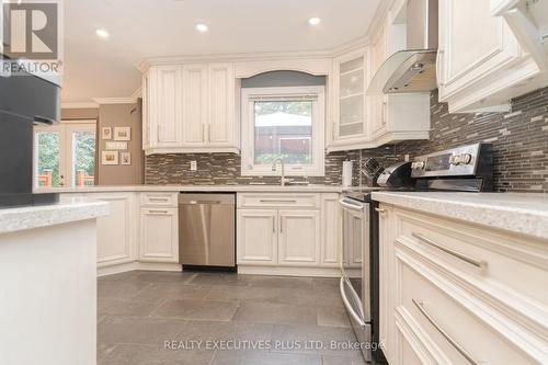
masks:
[[[110,214],[109,203],[69,199],[64,203],[0,209],[0,235],[94,219]]]

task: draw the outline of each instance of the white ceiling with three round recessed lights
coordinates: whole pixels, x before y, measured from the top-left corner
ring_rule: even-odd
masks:
[[[129,96],[149,57],[326,50],[364,36],[379,0],[68,0],[64,102]],[[318,16],[318,26],[308,24]],[[209,31],[199,33],[197,23]],[[107,39],[95,35],[105,28]]]

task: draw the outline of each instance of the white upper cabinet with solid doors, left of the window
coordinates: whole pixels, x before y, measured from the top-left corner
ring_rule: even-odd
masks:
[[[142,77],[147,155],[238,152],[233,64],[150,66]]]

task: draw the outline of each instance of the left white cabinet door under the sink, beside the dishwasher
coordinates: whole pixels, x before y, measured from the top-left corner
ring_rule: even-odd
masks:
[[[277,210],[239,210],[237,225],[239,264],[277,263]]]

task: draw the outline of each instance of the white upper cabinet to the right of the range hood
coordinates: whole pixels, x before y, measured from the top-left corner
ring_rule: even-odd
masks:
[[[437,57],[439,100],[450,113],[507,111],[510,99],[546,82],[490,0],[439,1]]]

